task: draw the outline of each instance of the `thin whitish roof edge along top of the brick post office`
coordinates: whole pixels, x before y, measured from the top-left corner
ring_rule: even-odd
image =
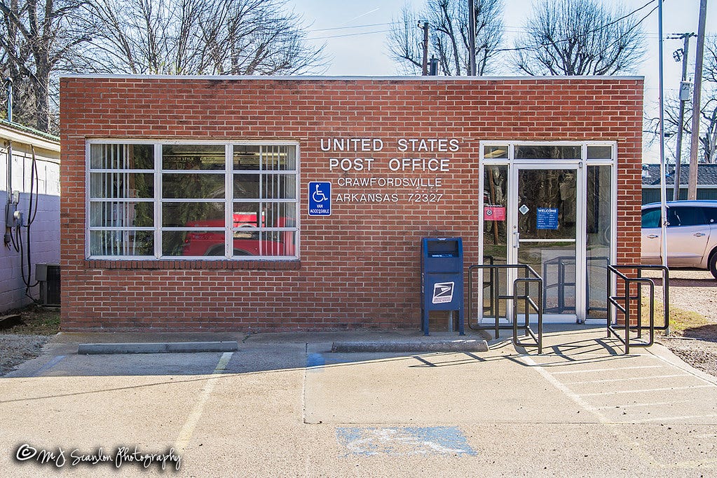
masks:
[[[528,80],[528,81],[562,81],[562,80],[645,80],[644,76],[522,76],[522,77],[493,77],[493,76],[268,76],[268,75],[82,75],[73,73],[61,75],[60,78],[108,78],[108,79],[139,79],[149,80],[288,80],[288,81],[323,81],[323,80],[376,80],[376,81],[503,81],[503,80]]]

